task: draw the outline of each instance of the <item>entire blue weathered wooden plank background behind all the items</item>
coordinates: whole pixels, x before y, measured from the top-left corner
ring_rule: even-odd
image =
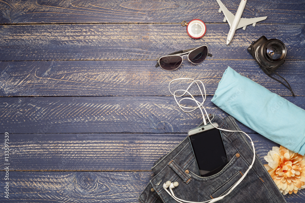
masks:
[[[239,0],[223,3],[235,14]],[[223,117],[210,100],[228,66],[305,109],[304,0],[249,0],[242,17],[268,17],[237,30],[228,46],[218,9],[216,0],[0,1],[0,202],[139,202],[154,161],[202,122],[200,111],[178,109],[172,79],[202,80],[206,109]],[[199,40],[181,26],[195,18],[207,27]],[[286,44],[277,72],[295,97],[246,51],[262,35]],[[203,44],[213,57],[200,65],[155,67],[157,57]],[[278,144],[240,126],[265,164]],[[305,191],[285,198],[305,202]]]

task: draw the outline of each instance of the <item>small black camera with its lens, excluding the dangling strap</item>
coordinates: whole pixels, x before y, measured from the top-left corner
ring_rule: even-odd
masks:
[[[253,42],[247,50],[269,75],[285,62],[287,55],[287,48],[281,40],[268,40],[265,36]]]

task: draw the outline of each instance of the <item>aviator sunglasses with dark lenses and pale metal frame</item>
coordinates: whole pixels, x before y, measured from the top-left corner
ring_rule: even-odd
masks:
[[[167,56],[158,58],[158,64],[156,67],[160,65],[163,70],[174,71],[182,64],[184,56],[188,56],[188,60],[191,61],[191,63],[200,64],[206,59],[207,56],[211,57],[212,54],[209,54],[209,49],[206,45],[176,51],[168,54]]]

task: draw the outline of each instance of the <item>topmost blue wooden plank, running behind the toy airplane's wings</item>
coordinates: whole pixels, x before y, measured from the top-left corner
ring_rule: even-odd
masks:
[[[223,0],[235,14],[239,1]],[[0,2],[0,23],[181,23],[200,18],[222,22],[219,5],[206,1],[22,1]],[[268,16],[262,23],[304,23],[303,0],[247,2],[242,17]]]

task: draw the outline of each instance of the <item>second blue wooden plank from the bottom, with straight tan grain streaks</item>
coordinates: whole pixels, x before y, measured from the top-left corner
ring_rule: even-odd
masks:
[[[278,144],[259,134],[249,134],[256,154],[264,156]],[[10,134],[11,171],[131,171],[150,170],[153,163],[170,152],[186,133],[162,134]],[[249,141],[250,142],[250,141]],[[1,144],[4,147],[4,143]],[[2,169],[3,170],[3,169]]]

